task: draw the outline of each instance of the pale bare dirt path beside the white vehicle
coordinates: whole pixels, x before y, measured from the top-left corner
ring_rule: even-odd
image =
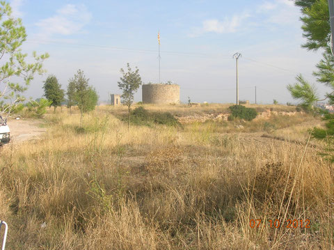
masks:
[[[16,144],[40,138],[47,131],[44,127],[41,127],[43,123],[43,120],[32,119],[8,120],[11,141]]]

